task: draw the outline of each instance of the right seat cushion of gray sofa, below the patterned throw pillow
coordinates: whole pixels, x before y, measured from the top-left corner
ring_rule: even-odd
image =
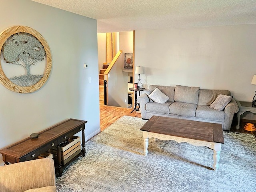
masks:
[[[196,118],[208,120],[224,120],[225,112],[212,109],[208,105],[198,105],[196,108]]]

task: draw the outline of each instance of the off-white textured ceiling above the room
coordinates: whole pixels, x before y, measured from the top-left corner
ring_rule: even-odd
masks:
[[[256,24],[256,0],[32,0],[97,20],[98,32]]]

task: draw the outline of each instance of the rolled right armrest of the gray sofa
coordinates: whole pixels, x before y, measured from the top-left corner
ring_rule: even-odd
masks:
[[[224,112],[225,112],[225,119],[224,119],[224,127],[223,130],[230,130],[231,124],[234,118],[234,114],[237,113],[239,110],[238,104],[234,98],[226,105]]]

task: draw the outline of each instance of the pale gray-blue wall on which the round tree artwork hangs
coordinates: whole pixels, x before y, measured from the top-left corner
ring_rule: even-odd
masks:
[[[0,148],[68,118],[88,121],[86,140],[100,132],[96,20],[30,0],[1,0],[1,15],[0,32],[23,25],[44,37],[52,70],[44,86],[29,94],[0,84]]]

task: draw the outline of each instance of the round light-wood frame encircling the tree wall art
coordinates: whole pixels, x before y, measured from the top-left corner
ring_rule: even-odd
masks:
[[[28,87],[22,87],[14,84],[6,77],[6,75],[4,74],[4,71],[2,70],[1,60],[0,60],[0,82],[11,91],[14,91],[17,93],[31,93],[41,88],[46,82],[46,80],[48,79],[48,77],[50,76],[50,72],[52,69],[52,54],[50,52],[50,47],[48,46],[43,36],[40,33],[38,33],[36,30],[27,26],[12,26],[4,30],[0,34],[0,54],[1,54],[1,50],[4,45],[4,42],[6,42],[6,40],[13,34],[20,33],[20,32],[33,35],[41,42],[42,46],[44,46],[44,50],[46,52],[46,71],[44,72],[44,76],[42,77],[42,79],[40,79],[36,84]]]

